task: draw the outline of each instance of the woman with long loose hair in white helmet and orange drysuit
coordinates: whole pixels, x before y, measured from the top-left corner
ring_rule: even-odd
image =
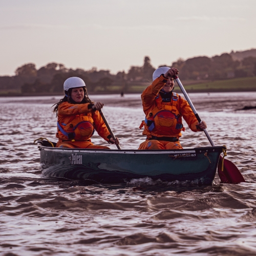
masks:
[[[56,103],[53,110],[58,117],[56,147],[110,149],[91,142],[94,130],[107,142],[119,144],[118,138],[113,140],[100,116],[103,104],[90,100],[84,81],[79,77],[70,77],[63,87],[65,97]]]

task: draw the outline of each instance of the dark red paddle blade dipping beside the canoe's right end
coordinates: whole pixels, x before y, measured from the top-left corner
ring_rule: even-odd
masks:
[[[222,167],[222,156],[218,163],[218,174],[220,176],[222,183],[240,183],[245,182],[243,175],[240,173],[240,170],[236,165],[230,162],[227,159],[224,159],[223,171]]]

